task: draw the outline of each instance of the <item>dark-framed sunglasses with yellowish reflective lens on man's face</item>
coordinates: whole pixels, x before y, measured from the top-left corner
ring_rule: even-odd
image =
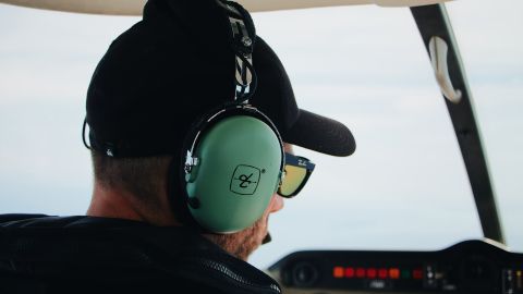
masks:
[[[278,187],[278,195],[285,198],[296,196],[307,183],[315,166],[304,157],[285,152],[285,175]]]

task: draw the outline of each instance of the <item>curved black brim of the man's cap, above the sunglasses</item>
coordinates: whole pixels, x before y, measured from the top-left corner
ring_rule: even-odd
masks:
[[[354,136],[345,125],[303,109],[281,135],[287,143],[331,156],[350,156],[356,150]]]

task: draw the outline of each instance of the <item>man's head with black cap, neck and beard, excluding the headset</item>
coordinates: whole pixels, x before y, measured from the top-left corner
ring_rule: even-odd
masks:
[[[144,20],[117,38],[98,64],[87,94],[87,123],[94,148],[95,196],[97,191],[109,196],[106,200],[94,196],[89,213],[119,217],[96,212],[107,211],[96,207],[107,208],[120,197],[111,206],[132,207],[123,213],[129,218],[160,225],[193,225],[190,210],[205,205],[193,206],[185,195],[185,182],[191,182],[191,176],[182,173],[187,134],[206,113],[232,101],[235,57],[223,11],[215,1],[203,3],[149,1]],[[205,21],[195,22],[194,11]],[[280,61],[259,38],[253,61],[258,88],[251,103],[275,122],[284,142],[337,156],[352,154],[354,140],[345,126],[297,108]],[[259,142],[251,139],[248,144]],[[256,167],[252,170],[264,172]],[[243,185],[253,179],[252,173],[228,172],[231,191],[234,180]],[[234,197],[248,199],[248,195]],[[254,224],[211,240],[244,257],[266,235],[268,215],[281,207],[281,198],[269,193]],[[233,211],[226,206],[219,213],[228,218]]]

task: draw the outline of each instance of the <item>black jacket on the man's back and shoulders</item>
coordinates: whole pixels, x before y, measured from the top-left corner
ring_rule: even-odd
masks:
[[[0,293],[280,293],[275,280],[181,226],[0,215]]]

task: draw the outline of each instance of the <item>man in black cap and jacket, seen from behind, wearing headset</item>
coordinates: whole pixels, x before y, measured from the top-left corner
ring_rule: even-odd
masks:
[[[235,151],[231,156],[270,145],[272,137],[279,138],[279,132],[285,143],[279,140],[277,148],[262,149],[276,149],[268,154],[281,158],[281,163],[283,157],[287,159],[285,166],[276,169],[285,177],[278,173],[278,193],[254,205],[252,211],[260,211],[254,221],[215,229],[216,211],[227,223],[243,212],[243,201],[257,201],[252,195],[265,188],[262,182],[273,167],[235,166],[247,172],[236,174],[234,170],[232,177],[227,177],[227,187],[242,194],[238,187],[247,191],[254,185],[252,193],[232,196],[233,201],[240,201],[239,210],[219,203],[206,206],[199,187],[191,186],[194,177],[199,181],[204,176],[203,167],[209,161],[209,157],[196,156],[211,140],[207,133],[221,127],[222,121],[244,117],[233,113],[215,122],[214,118],[221,114],[208,120],[204,114],[232,100],[235,71],[242,66],[234,63],[238,53],[231,46],[230,17],[223,5],[210,0],[193,2],[149,1],[144,20],[108,49],[87,94],[86,121],[95,175],[87,217],[0,217],[0,290],[4,290],[0,292],[280,292],[271,278],[242,260],[267,240],[269,215],[283,207],[280,195],[294,196],[311,174],[313,164],[293,157],[291,144],[348,156],[354,151],[354,139],[342,124],[297,108],[283,66],[257,38],[252,53],[255,72],[250,72],[257,74],[257,87],[250,102],[263,114],[250,107],[246,111],[256,113],[255,124],[264,125],[262,128],[270,134],[255,137],[254,144],[247,142],[252,145],[248,148],[232,146]],[[244,21],[248,29],[248,15]],[[236,108],[244,111],[243,105],[234,105],[232,111]],[[259,124],[265,115],[271,122],[267,119]],[[205,126],[199,127],[199,121]],[[207,122],[211,122],[209,126]],[[238,139],[252,136],[255,132],[251,131],[240,133]],[[187,146],[191,152],[186,155]],[[259,164],[269,161],[260,157],[264,160]],[[226,163],[230,160],[223,159]],[[303,171],[303,176],[294,177],[293,169]],[[255,171],[259,171],[258,177],[253,175]],[[275,191],[277,186],[268,188]],[[196,196],[190,195],[192,189],[197,191]],[[209,207],[210,223],[205,221],[206,216],[198,215],[199,209]]]

